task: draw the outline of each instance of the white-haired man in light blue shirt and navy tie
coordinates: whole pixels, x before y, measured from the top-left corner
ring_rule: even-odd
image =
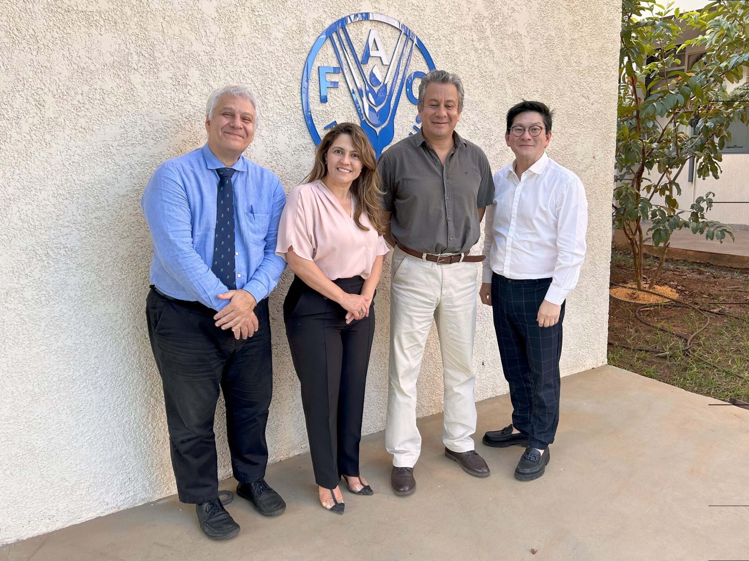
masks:
[[[264,481],[273,387],[267,296],[285,267],[276,236],[286,197],[273,172],[242,155],[257,118],[249,88],[214,91],[207,143],[159,166],[142,199],[154,242],[148,335],[163,380],[178,496],[195,503],[201,530],[214,539],[240,530],[219,499],[219,388],[237,494],[264,515],[286,508]]]

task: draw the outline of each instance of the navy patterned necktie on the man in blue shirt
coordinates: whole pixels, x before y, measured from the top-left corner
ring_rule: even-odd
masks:
[[[234,189],[231,176],[234,169],[218,168],[218,192],[216,193],[216,237],[213,240],[213,274],[229,290],[237,288],[237,268],[234,261]]]

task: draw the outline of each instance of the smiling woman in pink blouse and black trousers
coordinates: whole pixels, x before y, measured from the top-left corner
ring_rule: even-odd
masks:
[[[284,321],[320,502],[341,515],[341,476],[352,493],[372,494],[359,471],[359,443],[375,334],[372,300],[388,251],[376,164],[358,125],[328,131],[309,183],[288,195],[276,245],[295,275]]]

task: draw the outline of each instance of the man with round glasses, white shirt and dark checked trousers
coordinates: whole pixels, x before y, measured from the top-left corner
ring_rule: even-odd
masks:
[[[577,175],[551,160],[553,112],[523,101],[507,112],[515,161],[494,174],[486,213],[482,303],[494,329],[512,400],[512,424],[484,435],[487,446],[526,446],[515,478],[537,479],[559,422],[565,297],[585,257],[588,203]]]

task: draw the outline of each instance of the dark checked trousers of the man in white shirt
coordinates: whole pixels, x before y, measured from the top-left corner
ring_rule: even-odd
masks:
[[[527,434],[530,446],[545,449],[554,442],[560,419],[560,321],[539,327],[539,306],[551,279],[512,280],[491,276],[494,330],[505,378],[510,386],[512,425]]]

